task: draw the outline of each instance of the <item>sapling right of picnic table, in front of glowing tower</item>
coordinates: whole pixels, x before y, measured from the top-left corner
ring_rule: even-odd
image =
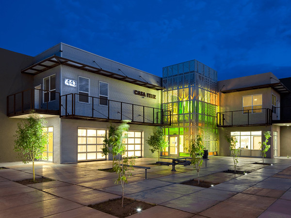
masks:
[[[194,166],[196,171],[198,172],[198,184],[200,183],[199,171],[203,163],[203,154],[204,154],[204,146],[202,141],[202,136],[198,134],[195,140],[191,140],[191,143],[188,148],[190,156],[191,156],[191,164]]]

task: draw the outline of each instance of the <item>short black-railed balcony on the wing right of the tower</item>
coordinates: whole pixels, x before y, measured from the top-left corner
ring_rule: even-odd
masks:
[[[216,120],[219,127],[272,125],[272,110],[264,108],[218,112]]]

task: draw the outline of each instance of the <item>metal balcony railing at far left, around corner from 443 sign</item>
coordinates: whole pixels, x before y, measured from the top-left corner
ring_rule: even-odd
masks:
[[[60,93],[41,89],[27,89],[7,96],[7,116],[37,113],[60,114]]]

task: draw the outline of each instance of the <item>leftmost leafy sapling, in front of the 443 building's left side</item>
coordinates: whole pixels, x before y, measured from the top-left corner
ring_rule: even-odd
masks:
[[[17,124],[14,135],[16,137],[14,151],[18,153],[17,157],[25,164],[32,161],[33,182],[35,182],[34,160],[42,158],[48,143],[48,136],[43,130],[44,124],[46,124],[44,119],[32,113]]]

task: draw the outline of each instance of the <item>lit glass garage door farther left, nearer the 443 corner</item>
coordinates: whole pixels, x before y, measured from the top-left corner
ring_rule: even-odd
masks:
[[[78,129],[78,161],[105,160],[101,155],[105,134],[103,129]]]

